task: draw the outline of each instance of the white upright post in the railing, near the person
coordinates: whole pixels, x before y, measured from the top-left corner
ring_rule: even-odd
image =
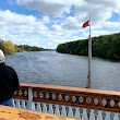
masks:
[[[32,110],[33,109],[33,88],[28,87],[28,104],[27,104],[27,109]]]

